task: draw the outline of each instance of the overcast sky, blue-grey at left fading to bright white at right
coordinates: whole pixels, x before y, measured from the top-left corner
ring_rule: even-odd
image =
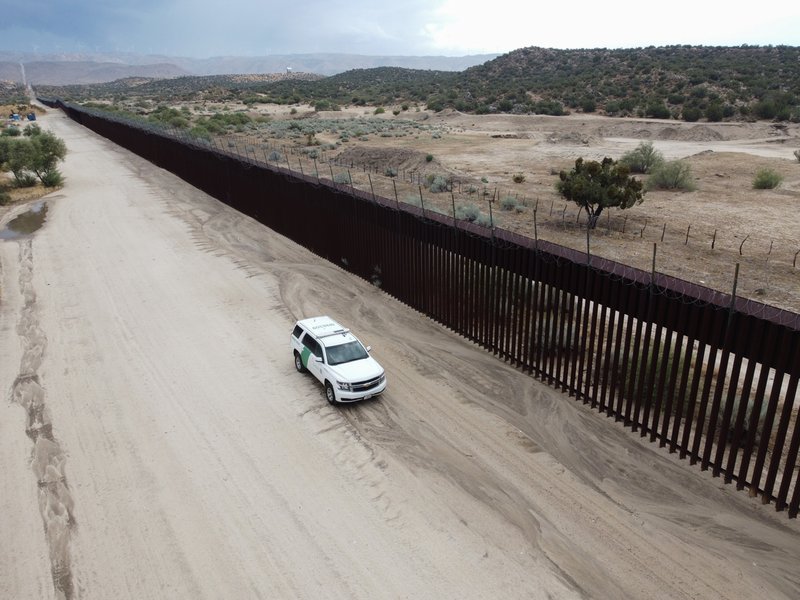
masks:
[[[537,6],[541,5],[541,6]],[[800,46],[800,2],[0,0],[0,50],[207,58],[462,56],[527,46]]]

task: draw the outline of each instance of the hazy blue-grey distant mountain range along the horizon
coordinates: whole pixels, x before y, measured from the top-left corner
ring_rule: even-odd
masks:
[[[358,54],[286,54],[185,58],[136,54],[41,55],[0,52],[0,80],[30,85],[106,83],[127,77],[171,78],[184,75],[314,73],[335,75],[351,69],[402,67],[463,71],[496,58],[470,56],[363,56]]]

